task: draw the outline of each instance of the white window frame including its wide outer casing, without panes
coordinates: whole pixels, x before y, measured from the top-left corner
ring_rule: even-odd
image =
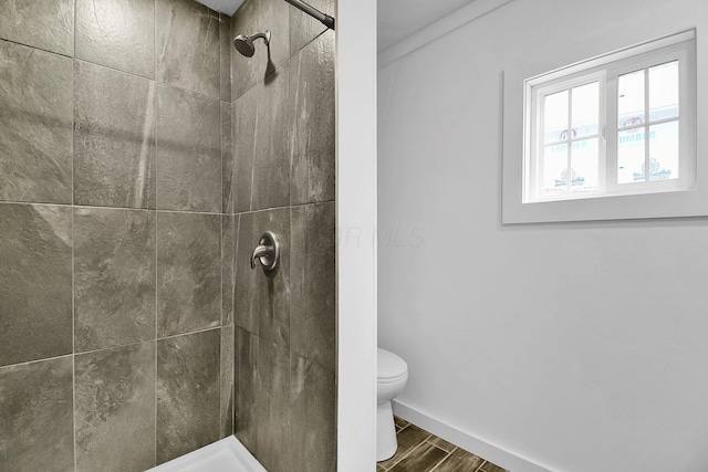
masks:
[[[615,43],[621,41],[621,38],[614,40]],[[708,216],[708,137],[698,136],[696,132],[699,123],[708,123],[708,113],[706,112],[708,111],[708,102],[702,98],[702,95],[697,94],[698,84],[702,84],[700,76],[706,75],[701,63],[699,63],[700,55],[696,52],[697,44],[701,43],[696,38],[696,30],[688,30],[658,40],[636,43],[629,48],[617,49],[612,53],[559,67],[550,73],[539,71],[541,67],[548,71],[551,69],[548,65],[553,63],[546,57],[541,60],[541,55],[538,57],[529,55],[525,61],[516,63],[506,70],[503,75],[501,223]],[[592,51],[592,46],[584,48],[584,50]],[[604,189],[605,193],[598,196],[591,197],[581,193],[571,199],[530,201],[531,199],[528,198],[530,172],[538,171],[537,168],[528,165],[525,158],[531,146],[535,145],[535,143],[531,143],[531,139],[525,138],[525,136],[531,136],[529,133],[531,114],[538,113],[534,112],[531,103],[533,97],[530,94],[531,87],[543,84],[543,86],[558,85],[563,90],[563,85],[568,85],[569,81],[593,73],[604,73],[605,77],[608,77],[607,80],[614,77],[616,81],[617,75],[623,74],[623,71],[643,69],[642,65],[645,63],[642,61],[645,59],[654,57],[649,60],[650,65],[665,63],[667,61],[660,60],[662,54],[676,54],[678,50],[683,50],[683,52],[678,52],[683,57],[683,60],[679,57],[679,66],[688,67],[686,74],[683,71],[679,73],[679,116],[683,122],[679,125],[679,178],[667,179],[674,180],[674,182],[670,187],[660,189],[653,185],[654,181],[650,181],[648,182],[652,183],[650,186],[646,186],[647,188],[639,189],[639,191],[636,189],[644,187],[643,185],[629,183],[629,186],[635,186],[632,192],[626,192],[622,188],[610,188]],[[572,54],[564,56],[572,56]],[[659,57],[658,61],[656,61],[657,57]],[[543,64],[546,66],[544,67]],[[520,84],[522,86],[519,86]],[[611,92],[607,93],[611,94]],[[523,109],[523,113],[519,113],[520,109]],[[606,133],[610,126],[616,126],[616,97],[614,102],[606,102],[606,108],[601,113],[603,112],[607,117]],[[608,137],[607,134],[605,136]],[[616,134],[611,139],[606,143],[607,148],[610,149],[611,146],[616,148]],[[608,155],[604,161],[606,162],[605,172],[610,172],[610,168],[614,168],[616,172],[616,156]],[[686,176],[689,176],[688,179]]]

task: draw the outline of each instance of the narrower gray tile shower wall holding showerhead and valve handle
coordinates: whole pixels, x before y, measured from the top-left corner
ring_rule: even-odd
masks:
[[[334,0],[313,6],[334,14]],[[269,472],[336,470],[334,32],[282,0],[247,0],[232,35],[235,433]],[[280,266],[251,270],[266,230]]]

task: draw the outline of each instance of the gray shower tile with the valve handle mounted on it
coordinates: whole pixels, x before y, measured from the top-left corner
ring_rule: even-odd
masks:
[[[280,346],[290,344],[290,209],[244,213],[239,218],[236,249],[236,324]],[[273,231],[280,238],[278,266],[267,272],[251,269],[250,258],[261,234]]]

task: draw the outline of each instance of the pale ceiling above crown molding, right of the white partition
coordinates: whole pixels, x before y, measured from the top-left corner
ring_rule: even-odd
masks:
[[[472,0],[378,0],[378,51],[470,3]]]

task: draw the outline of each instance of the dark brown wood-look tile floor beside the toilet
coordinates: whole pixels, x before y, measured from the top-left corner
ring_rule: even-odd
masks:
[[[376,472],[508,472],[398,417],[398,450],[378,462]]]

